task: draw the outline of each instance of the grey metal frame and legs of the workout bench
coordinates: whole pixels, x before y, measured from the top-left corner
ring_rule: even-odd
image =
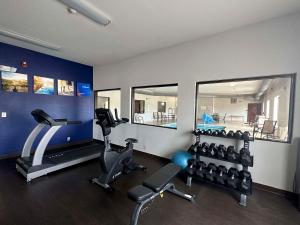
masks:
[[[147,186],[145,186],[145,187],[147,187]],[[146,203],[154,200],[154,198],[156,198],[157,196],[161,196],[165,191],[168,191],[168,192],[170,192],[170,193],[172,193],[174,195],[177,195],[178,197],[181,197],[183,199],[191,201],[192,203],[195,202],[194,196],[186,194],[186,193],[183,193],[181,191],[178,191],[175,188],[175,185],[173,183],[168,183],[159,192],[154,192],[153,191],[153,195],[151,197],[145,199],[144,201],[138,202],[138,205],[133,210],[133,213],[132,213],[132,216],[131,216],[130,225],[137,225],[138,219],[139,219],[139,215],[140,215],[141,210],[144,207],[144,205]]]

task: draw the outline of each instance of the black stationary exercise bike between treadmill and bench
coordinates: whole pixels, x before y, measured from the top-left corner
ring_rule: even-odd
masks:
[[[127,138],[125,140],[126,147],[112,145],[109,140],[111,128],[120,124],[128,123],[126,118],[119,119],[117,109],[115,109],[115,118],[109,109],[99,108],[95,110],[97,122],[103,133],[104,137],[104,152],[100,156],[100,165],[102,174],[99,177],[93,178],[92,183],[99,186],[113,190],[110,183],[122,174],[128,174],[130,171],[141,169],[146,170],[146,167],[134,162],[133,144],[137,143],[137,139]]]

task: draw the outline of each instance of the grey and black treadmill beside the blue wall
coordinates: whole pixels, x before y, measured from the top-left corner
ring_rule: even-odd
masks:
[[[26,178],[27,182],[51,172],[99,158],[101,152],[103,152],[103,144],[91,141],[88,144],[74,145],[72,148],[64,151],[59,151],[60,149],[58,149],[56,152],[46,154],[45,151],[49,141],[61,127],[81,124],[81,121],[53,119],[41,109],[33,110],[31,115],[38,122],[38,125],[28,136],[22,155],[16,162],[17,171]],[[34,154],[31,155],[32,144],[46,126],[50,127],[49,130],[41,138]]]

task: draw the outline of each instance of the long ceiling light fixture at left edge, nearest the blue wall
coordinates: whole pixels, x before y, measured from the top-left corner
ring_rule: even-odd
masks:
[[[61,49],[61,46],[56,45],[56,44],[52,44],[49,43],[47,41],[43,41],[34,37],[30,37],[27,36],[25,34],[20,34],[18,32],[12,31],[12,30],[8,30],[8,29],[4,29],[4,28],[0,28],[0,35],[2,36],[6,36],[6,37],[10,37],[10,38],[14,38],[20,41],[24,41],[30,44],[34,44],[34,45],[38,45],[44,48],[48,48],[51,50],[56,50],[58,51],[59,49]]]

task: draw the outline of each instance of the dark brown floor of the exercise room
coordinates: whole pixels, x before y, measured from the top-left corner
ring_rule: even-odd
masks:
[[[127,190],[164,162],[142,153],[136,160],[148,171],[136,171],[114,183],[116,191],[107,193],[89,183],[97,175],[98,161],[65,169],[26,183],[15,171],[13,160],[0,161],[0,225],[128,225],[135,203]],[[188,188],[175,179],[178,189],[196,194],[196,204],[165,194],[140,216],[140,225],[296,225],[300,212],[285,198],[254,190],[248,206],[237,204],[227,191],[194,184]]]

